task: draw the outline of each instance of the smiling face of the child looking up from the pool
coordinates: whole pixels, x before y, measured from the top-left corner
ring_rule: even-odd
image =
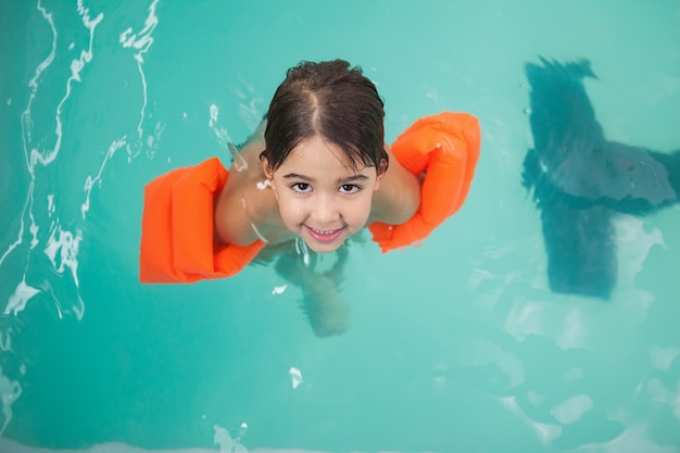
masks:
[[[340,147],[315,136],[295,147],[270,177],[281,219],[315,252],[332,252],[368,221],[380,176],[354,171]]]

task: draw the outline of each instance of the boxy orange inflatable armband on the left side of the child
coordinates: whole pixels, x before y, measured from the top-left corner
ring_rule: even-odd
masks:
[[[238,274],[264,248],[214,250],[213,199],[229,173],[217,158],[159,176],[144,188],[139,280],[192,282]]]

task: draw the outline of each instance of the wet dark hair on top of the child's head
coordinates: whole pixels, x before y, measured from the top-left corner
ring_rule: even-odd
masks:
[[[300,142],[314,136],[340,147],[356,169],[379,167],[385,151],[385,110],[373,81],[343,60],[303,61],[288,70],[266,115],[264,133],[272,169]]]

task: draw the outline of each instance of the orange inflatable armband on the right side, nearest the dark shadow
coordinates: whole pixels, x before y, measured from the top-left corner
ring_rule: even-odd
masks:
[[[442,112],[417,119],[392,144],[399,163],[425,172],[420,206],[401,225],[375,222],[368,229],[382,252],[425,239],[465,201],[481,143],[479,122],[467,113]]]

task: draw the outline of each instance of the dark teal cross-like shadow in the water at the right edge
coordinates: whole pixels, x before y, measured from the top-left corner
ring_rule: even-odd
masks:
[[[583,79],[590,62],[528,63],[533,149],[522,184],[541,211],[552,291],[608,299],[617,259],[612,217],[678,202],[680,150],[607,141]]]

